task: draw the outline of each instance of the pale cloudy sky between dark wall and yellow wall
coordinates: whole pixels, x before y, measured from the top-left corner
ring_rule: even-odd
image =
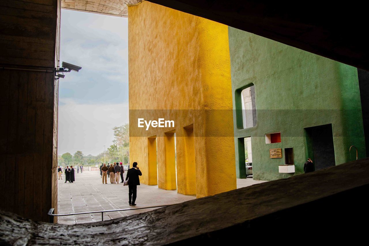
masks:
[[[128,19],[62,10],[60,48],[82,69],[59,79],[58,155],[97,155],[128,122]]]

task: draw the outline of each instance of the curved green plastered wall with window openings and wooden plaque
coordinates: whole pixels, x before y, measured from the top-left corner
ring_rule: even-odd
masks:
[[[237,177],[245,177],[242,138],[251,136],[254,179],[275,180],[303,173],[311,155],[304,128],[332,124],[335,163],[365,157],[357,69],[232,27],[228,28]],[[242,129],[241,91],[255,85],[257,124]],[[281,143],[265,134],[281,132]],[[271,159],[269,149],[282,148]],[[295,173],[279,173],[284,148],[293,148]],[[314,161],[314,159],[313,159]]]

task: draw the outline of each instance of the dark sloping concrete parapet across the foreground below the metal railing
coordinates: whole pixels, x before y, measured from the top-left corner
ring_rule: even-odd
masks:
[[[365,238],[369,158],[244,187],[166,208],[104,222],[57,225],[0,211],[0,243],[11,245],[166,245],[235,243],[240,233],[260,242],[300,239],[308,229],[342,241],[337,228]],[[342,209],[348,211],[343,216]],[[345,212],[345,211],[344,211]],[[346,225],[346,226],[345,226]],[[347,226],[349,225],[349,226]],[[113,236],[114,235],[114,236]],[[113,236],[113,239],[112,239]],[[246,235],[245,235],[246,236]],[[276,237],[277,236],[277,237]],[[306,236],[305,241],[316,236]],[[362,241],[361,241],[362,242]]]

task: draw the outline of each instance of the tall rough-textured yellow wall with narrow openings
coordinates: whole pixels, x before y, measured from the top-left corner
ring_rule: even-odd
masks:
[[[156,184],[148,154],[156,136],[159,188],[197,197],[235,189],[228,27],[147,1],[128,11],[130,161],[142,183]],[[175,127],[146,131],[138,118]]]

